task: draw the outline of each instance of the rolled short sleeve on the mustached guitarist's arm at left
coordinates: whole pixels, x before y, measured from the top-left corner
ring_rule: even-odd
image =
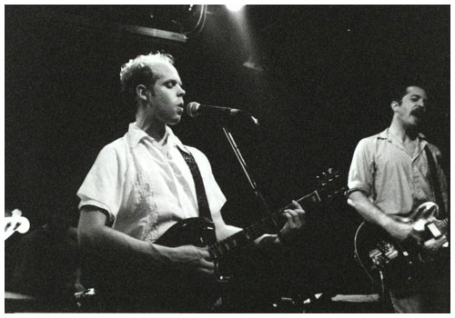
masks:
[[[361,191],[367,196],[371,195],[374,173],[374,144],[369,138],[360,140],[352,156],[348,176],[348,195]]]

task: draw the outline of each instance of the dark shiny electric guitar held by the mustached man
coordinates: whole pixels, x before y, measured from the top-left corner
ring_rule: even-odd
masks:
[[[427,202],[409,216],[393,216],[399,222],[411,224],[421,232],[424,241],[439,239],[448,234],[449,219],[438,220],[437,204]],[[449,247],[449,242],[443,247]],[[364,222],[359,225],[354,238],[354,253],[360,266],[376,284],[384,283],[390,290],[408,288],[419,282],[425,266],[437,261],[423,253],[417,243],[399,242],[379,226]]]

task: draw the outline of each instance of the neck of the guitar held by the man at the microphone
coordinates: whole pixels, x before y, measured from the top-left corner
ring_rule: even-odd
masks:
[[[311,194],[305,195],[296,201],[305,209],[312,204],[319,203],[321,200],[318,192],[314,191]],[[223,255],[232,252],[234,249],[245,246],[248,243],[254,241],[262,234],[268,232],[277,233],[287,220],[284,216],[284,211],[291,207],[292,204],[288,204],[277,212],[261,219],[258,223],[251,224],[237,234],[231,235],[227,237],[227,239],[214,243],[210,246],[212,254],[217,258],[221,258]]]

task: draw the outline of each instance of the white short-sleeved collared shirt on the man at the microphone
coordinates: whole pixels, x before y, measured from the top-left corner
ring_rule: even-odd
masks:
[[[198,216],[192,174],[179,150],[193,154],[202,175],[212,214],[226,198],[205,154],[183,145],[167,127],[161,141],[130,124],[128,132],[107,144],[96,158],[77,195],[79,208],[106,210],[112,227],[137,239],[154,242],[178,221]]]

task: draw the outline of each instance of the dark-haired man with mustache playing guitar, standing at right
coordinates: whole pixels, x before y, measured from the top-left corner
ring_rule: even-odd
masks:
[[[440,205],[438,217],[448,212],[440,150],[419,130],[427,112],[427,93],[420,86],[404,86],[393,96],[390,106],[393,117],[389,128],[360,140],[354,152],[348,203],[398,242],[415,243],[427,253],[438,253],[448,244],[446,235],[425,239],[423,229],[394,217],[409,214],[425,202]],[[430,161],[435,163],[436,171],[431,171]],[[450,288],[440,285],[441,281],[450,282],[447,277],[448,273],[426,273],[408,290],[390,291],[395,312],[449,313]]]

